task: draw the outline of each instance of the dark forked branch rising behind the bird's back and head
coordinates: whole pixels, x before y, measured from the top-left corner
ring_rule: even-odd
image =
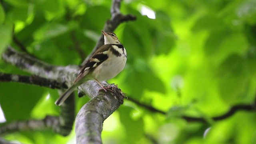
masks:
[[[112,0],[112,6],[111,6],[111,18],[110,20],[107,20],[103,30],[105,32],[113,32],[122,22],[127,22],[130,20],[136,20],[136,17],[128,14],[128,15],[123,15],[120,13],[120,4],[121,0]],[[96,45],[94,46],[91,54],[84,60],[84,62],[81,64],[83,66],[86,61],[94,54],[94,52],[104,44],[104,37],[103,35],[100,35],[100,38]]]

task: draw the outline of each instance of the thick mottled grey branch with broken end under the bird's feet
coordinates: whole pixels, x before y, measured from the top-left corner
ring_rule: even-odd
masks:
[[[93,98],[80,109],[76,116],[77,144],[102,144],[102,123],[124,100],[124,94],[114,84],[110,85],[114,93],[90,89],[92,85],[94,84],[88,85],[87,92]]]

